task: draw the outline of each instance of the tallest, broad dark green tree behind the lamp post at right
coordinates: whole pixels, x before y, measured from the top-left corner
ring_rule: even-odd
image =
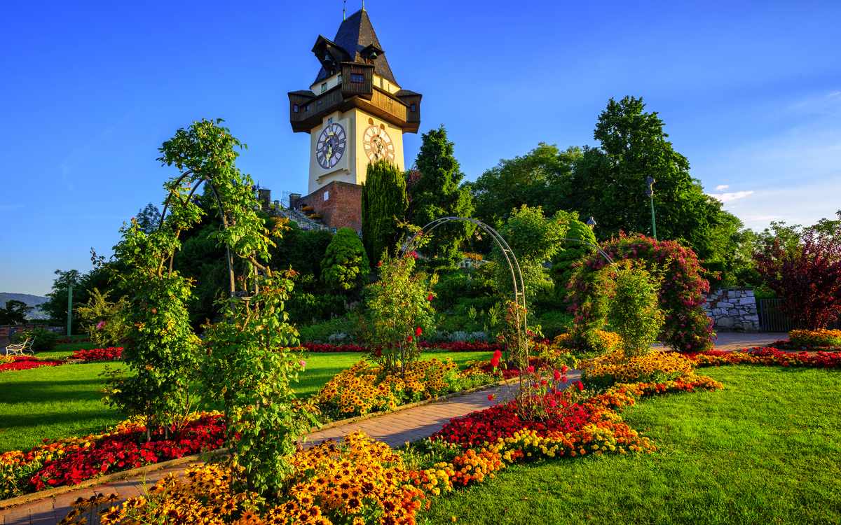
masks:
[[[584,149],[566,186],[564,207],[593,215],[596,234],[608,239],[620,230],[652,234],[645,180],[654,178],[658,238],[678,240],[709,259],[709,234],[720,203],[707,197],[690,176],[689,160],[674,151],[658,113],[646,113],[642,98],[611,98],[599,115],[594,138],[600,149]]]

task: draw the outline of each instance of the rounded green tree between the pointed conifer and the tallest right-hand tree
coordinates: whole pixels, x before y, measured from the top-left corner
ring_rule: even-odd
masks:
[[[499,228],[512,208],[524,204],[553,215],[563,205],[563,188],[581,155],[577,146],[559,151],[541,142],[526,155],[500,160],[470,185],[476,218]]]

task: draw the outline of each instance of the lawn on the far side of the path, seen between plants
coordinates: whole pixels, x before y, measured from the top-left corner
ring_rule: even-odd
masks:
[[[38,354],[70,355],[91,343],[67,343]],[[423,354],[424,359],[450,357],[462,368],[468,360],[489,359],[488,352]],[[304,354],[306,370],[294,385],[301,397],[317,393],[341,370],[362,359],[361,354]],[[99,393],[104,363],[61,365],[0,373],[0,454],[30,449],[44,438],[70,438],[101,433],[124,417],[109,411]],[[112,368],[119,364],[111,364]]]

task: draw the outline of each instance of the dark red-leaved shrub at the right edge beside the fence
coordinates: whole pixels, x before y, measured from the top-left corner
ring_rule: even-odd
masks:
[[[832,230],[829,230],[832,232]],[[754,252],[757,270],[785,299],[785,313],[809,330],[832,323],[841,313],[841,228],[808,228],[796,244],[774,239]]]

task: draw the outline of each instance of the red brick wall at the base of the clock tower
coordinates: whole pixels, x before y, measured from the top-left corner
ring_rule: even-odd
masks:
[[[362,229],[362,186],[358,184],[332,181],[306,197],[290,195],[289,206],[311,206],[330,228]]]

